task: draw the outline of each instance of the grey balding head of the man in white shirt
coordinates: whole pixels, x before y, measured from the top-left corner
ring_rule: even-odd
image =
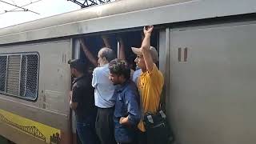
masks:
[[[101,50],[98,51],[98,65],[104,66],[110,61],[112,61],[115,57],[114,50],[103,47]]]

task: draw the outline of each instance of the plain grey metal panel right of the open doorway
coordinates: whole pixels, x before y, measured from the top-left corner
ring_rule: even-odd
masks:
[[[255,38],[255,24],[170,32],[168,108],[178,143],[256,142]]]

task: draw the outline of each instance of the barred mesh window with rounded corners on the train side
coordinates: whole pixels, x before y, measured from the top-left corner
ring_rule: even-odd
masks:
[[[0,93],[35,100],[38,62],[38,54],[0,54]]]

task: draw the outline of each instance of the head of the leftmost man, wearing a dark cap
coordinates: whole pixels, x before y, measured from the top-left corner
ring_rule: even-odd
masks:
[[[70,72],[73,77],[78,78],[78,76],[85,74],[86,64],[82,62],[82,60],[73,59],[70,60],[68,64],[70,64]]]

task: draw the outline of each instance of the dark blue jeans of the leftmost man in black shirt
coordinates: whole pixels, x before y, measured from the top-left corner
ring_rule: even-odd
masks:
[[[96,144],[94,118],[86,119],[86,122],[77,122],[78,137],[82,144]]]

